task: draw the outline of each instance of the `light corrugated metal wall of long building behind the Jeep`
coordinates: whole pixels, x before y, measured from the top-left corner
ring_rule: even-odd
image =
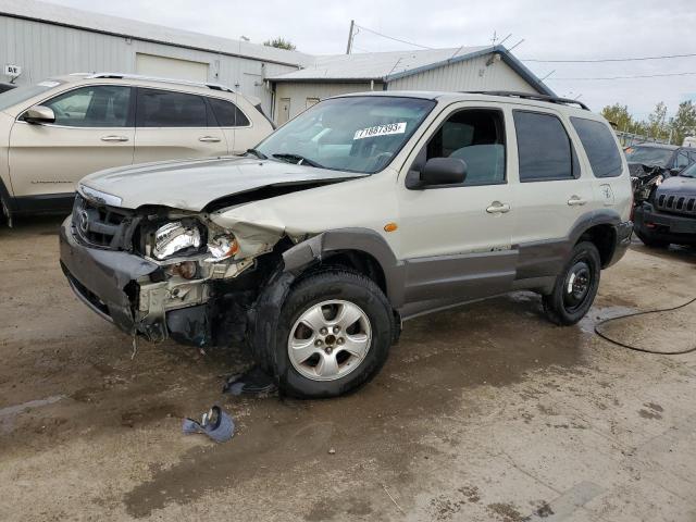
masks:
[[[290,65],[0,15],[0,64],[22,66],[17,85],[70,73],[109,71],[135,74],[138,52],[208,63],[209,82],[260,98],[269,114],[273,97],[263,78],[297,70]],[[1,80],[8,79],[2,77]]]

